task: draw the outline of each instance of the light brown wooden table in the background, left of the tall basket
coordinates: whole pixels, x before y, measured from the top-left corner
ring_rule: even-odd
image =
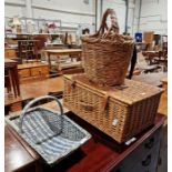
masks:
[[[58,61],[60,60],[60,55],[78,55],[81,58],[82,50],[81,49],[59,49],[59,50],[44,50],[48,55],[49,67],[51,69],[51,55],[57,55]],[[60,69],[60,62],[58,62]]]

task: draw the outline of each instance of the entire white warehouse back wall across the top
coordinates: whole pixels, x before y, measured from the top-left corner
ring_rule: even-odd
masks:
[[[60,19],[62,22],[94,23],[95,0],[30,0],[32,17],[42,19]],[[98,10],[100,11],[100,1]],[[141,0],[129,0],[128,32],[134,34],[136,31],[155,31],[155,33],[168,34],[168,0],[142,0],[140,26],[139,7]],[[68,6],[67,6],[68,4]],[[102,12],[112,8],[117,12],[120,31],[125,28],[125,2],[124,0],[102,0]],[[27,17],[26,0],[4,0],[6,17]],[[98,13],[98,28],[100,26],[100,12]]]

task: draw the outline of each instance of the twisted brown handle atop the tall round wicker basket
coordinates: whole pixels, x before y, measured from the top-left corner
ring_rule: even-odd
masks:
[[[107,24],[108,16],[111,17],[111,27],[110,28],[108,28],[108,24]],[[97,32],[97,34],[104,33],[104,29],[107,29],[108,32],[113,30],[115,33],[119,33],[118,19],[117,19],[115,11],[113,9],[107,9],[107,11],[104,12],[102,21],[101,21],[101,26],[100,26],[99,31]]]

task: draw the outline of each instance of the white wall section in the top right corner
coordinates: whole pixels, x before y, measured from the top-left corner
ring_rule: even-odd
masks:
[[[140,31],[168,34],[168,0],[142,0]]]

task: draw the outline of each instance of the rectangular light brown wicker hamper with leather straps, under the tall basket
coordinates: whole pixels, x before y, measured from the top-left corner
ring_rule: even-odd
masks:
[[[122,143],[154,123],[162,89],[125,80],[100,88],[84,74],[64,75],[64,105]]]

